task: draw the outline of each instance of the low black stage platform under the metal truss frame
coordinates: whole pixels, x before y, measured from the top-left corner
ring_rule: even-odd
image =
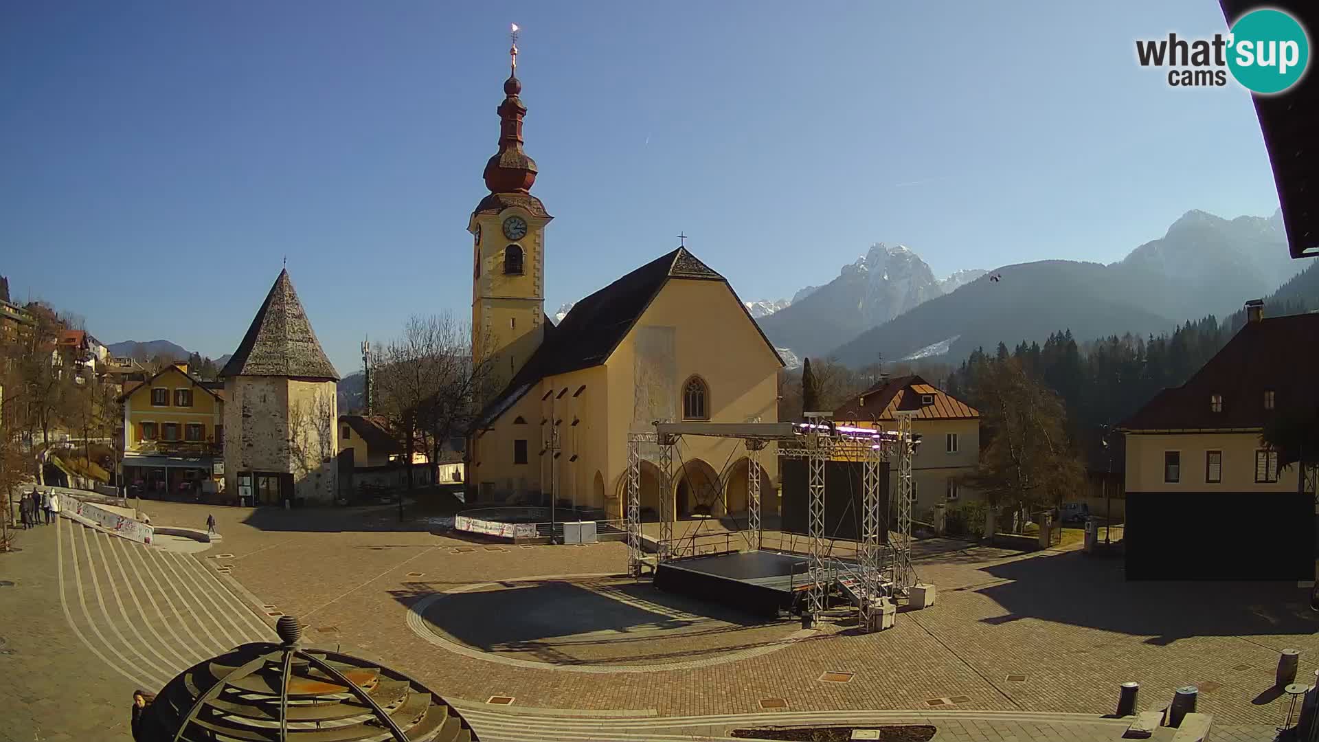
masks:
[[[790,610],[802,598],[810,586],[809,570],[810,560],[802,555],[729,552],[665,561],[656,569],[654,585],[661,590],[777,618],[780,611]]]

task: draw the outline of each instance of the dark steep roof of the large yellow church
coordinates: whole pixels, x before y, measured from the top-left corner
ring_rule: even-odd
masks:
[[[723,276],[702,263],[687,248],[679,247],[574,304],[557,327],[546,318],[545,341],[541,347],[532,354],[532,358],[513,376],[504,392],[485,405],[485,409],[476,417],[475,426],[488,425],[526,393],[533,384],[546,376],[604,363],[670,277],[724,281],[727,285]],[[736,292],[733,296],[736,297]],[[737,306],[747,312],[740,298]],[[751,320],[749,313],[747,317]],[[773,351],[774,346],[769,338],[765,338],[760,325],[754,320],[751,322]],[[778,358],[777,351],[774,351],[774,358]]]

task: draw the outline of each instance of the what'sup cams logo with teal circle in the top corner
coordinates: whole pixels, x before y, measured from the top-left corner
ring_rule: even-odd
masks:
[[[1136,41],[1142,67],[1169,67],[1173,87],[1223,87],[1228,74],[1252,92],[1272,95],[1297,84],[1310,63],[1310,37],[1282,11],[1250,11],[1213,38]]]

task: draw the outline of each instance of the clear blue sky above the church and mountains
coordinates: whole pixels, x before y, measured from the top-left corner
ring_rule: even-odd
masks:
[[[1249,95],[1173,88],[1149,3],[0,4],[0,273],[104,342],[232,353],[288,257],[340,374],[470,317],[508,24],[546,309],[677,247],[744,300],[873,242],[946,275],[1113,261],[1190,209],[1268,215]]]

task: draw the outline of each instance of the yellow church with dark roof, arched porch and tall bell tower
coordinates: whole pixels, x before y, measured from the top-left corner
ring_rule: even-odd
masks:
[[[728,280],[685,246],[576,302],[555,325],[545,314],[546,227],[524,151],[526,107],[512,74],[499,106],[489,194],[472,211],[472,354],[489,367],[467,438],[468,502],[547,503],[623,516],[628,433],[657,420],[774,422],[778,353]],[[760,461],[766,503],[774,452]],[[740,441],[683,438],[671,465],[675,512],[747,511],[749,459]],[[766,510],[772,508],[766,504]],[[660,470],[641,465],[642,516],[658,518]]]

